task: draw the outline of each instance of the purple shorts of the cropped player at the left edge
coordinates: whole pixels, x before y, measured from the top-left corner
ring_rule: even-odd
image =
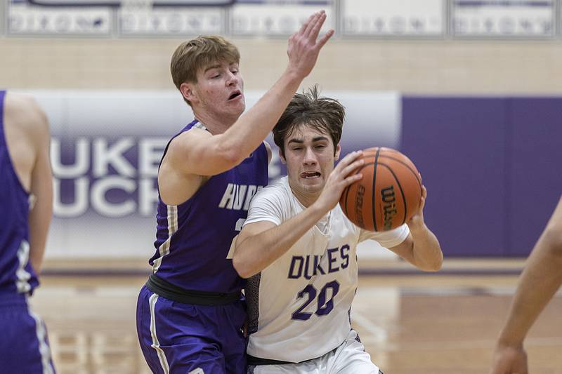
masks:
[[[0,295],[0,372],[54,374],[47,330],[25,295]]]

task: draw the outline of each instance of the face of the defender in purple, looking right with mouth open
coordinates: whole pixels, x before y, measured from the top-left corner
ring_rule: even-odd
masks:
[[[236,120],[246,108],[244,80],[235,62],[216,62],[200,69],[194,91],[194,108],[211,116]]]

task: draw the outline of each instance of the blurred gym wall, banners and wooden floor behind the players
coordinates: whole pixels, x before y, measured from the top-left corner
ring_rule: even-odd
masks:
[[[54,218],[32,303],[60,373],[148,370],[135,303],[154,252],[157,165],[192,119],[169,73],[176,46],[232,40],[251,107],[285,69],[287,37],[320,9],[336,33],[301,89],[318,83],[346,106],[344,153],[386,146],[414,161],[445,255],[421,274],[363,244],[355,328],[387,374],[487,371],[562,192],[561,1],[0,4],[0,86],[34,95],[53,136]],[[270,180],[284,173],[274,157]],[[558,295],[531,330],[533,373],[562,373],[561,307]]]

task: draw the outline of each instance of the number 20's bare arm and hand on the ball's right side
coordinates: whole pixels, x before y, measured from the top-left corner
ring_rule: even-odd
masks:
[[[398,246],[388,249],[420,270],[436,272],[443,265],[443,252],[435,234],[424,222],[426,187],[422,186],[421,191],[419,211],[407,222],[408,227],[410,227],[410,235]]]

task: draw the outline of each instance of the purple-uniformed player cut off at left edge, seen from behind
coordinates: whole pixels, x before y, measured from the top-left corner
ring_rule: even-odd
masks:
[[[45,325],[27,305],[53,213],[50,142],[37,103],[0,91],[1,373],[55,373]]]

